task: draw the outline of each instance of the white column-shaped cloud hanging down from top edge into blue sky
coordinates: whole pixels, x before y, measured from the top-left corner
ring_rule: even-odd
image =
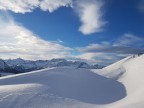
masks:
[[[79,31],[85,35],[102,31],[102,27],[106,24],[102,19],[103,5],[102,0],[78,0],[76,2],[75,9],[82,22]]]

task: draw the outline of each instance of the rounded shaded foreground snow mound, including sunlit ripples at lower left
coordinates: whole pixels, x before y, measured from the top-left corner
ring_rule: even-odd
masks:
[[[81,105],[103,105],[126,96],[125,87],[120,82],[86,69],[45,69],[3,77],[0,85],[0,105],[3,108],[31,108],[33,105],[36,105],[34,108],[49,108],[40,105],[51,106],[65,100],[68,102],[64,105],[73,101]]]

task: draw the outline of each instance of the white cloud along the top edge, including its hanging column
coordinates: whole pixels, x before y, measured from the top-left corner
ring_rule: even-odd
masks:
[[[0,10],[23,14],[36,8],[53,12],[60,7],[71,7],[82,23],[79,31],[85,35],[103,30],[106,23],[103,20],[103,5],[103,0],[0,0]]]

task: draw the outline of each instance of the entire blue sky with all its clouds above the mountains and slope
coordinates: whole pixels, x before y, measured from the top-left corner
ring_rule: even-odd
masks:
[[[110,64],[144,52],[144,0],[0,0],[2,58]]]

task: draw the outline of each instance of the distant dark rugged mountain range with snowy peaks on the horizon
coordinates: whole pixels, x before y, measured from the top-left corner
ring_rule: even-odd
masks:
[[[52,67],[101,69],[104,66],[98,64],[89,65],[86,62],[69,61],[66,59],[36,60],[36,61],[24,60],[22,58],[8,59],[8,60],[0,59],[0,72],[9,72],[17,74]]]

